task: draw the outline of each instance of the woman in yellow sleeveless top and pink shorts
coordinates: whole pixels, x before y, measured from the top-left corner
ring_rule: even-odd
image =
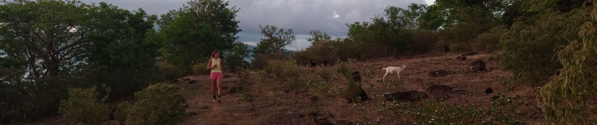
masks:
[[[221,100],[221,81],[222,81],[222,64],[223,64],[224,60],[220,58],[220,50],[214,50],[214,52],[211,52],[211,58],[210,58],[210,62],[207,63],[207,69],[211,69],[211,74],[210,74],[210,78],[211,78],[211,94],[214,95],[214,102],[215,101],[222,101]],[[216,85],[218,87],[218,99],[216,100]]]

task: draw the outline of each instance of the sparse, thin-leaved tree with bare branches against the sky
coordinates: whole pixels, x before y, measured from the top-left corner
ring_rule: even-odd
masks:
[[[277,59],[282,59],[284,48],[296,40],[296,36],[293,34],[293,29],[278,29],[275,25],[266,25],[265,27],[259,25],[259,28],[261,29],[261,34],[267,38],[261,39],[261,42],[257,44],[258,47],[256,48],[260,49],[264,47],[264,49],[273,50]]]

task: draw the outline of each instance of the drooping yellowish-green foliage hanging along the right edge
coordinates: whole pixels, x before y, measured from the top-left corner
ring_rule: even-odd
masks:
[[[580,39],[557,53],[560,73],[541,88],[537,98],[549,124],[595,124],[597,120],[597,8],[588,17],[578,32]]]

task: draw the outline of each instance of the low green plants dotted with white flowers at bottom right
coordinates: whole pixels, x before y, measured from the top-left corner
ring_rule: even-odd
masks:
[[[438,102],[435,99],[424,100],[420,103],[389,102],[382,103],[381,111],[390,111],[398,117],[413,116],[423,124],[524,124],[516,118],[523,114],[518,111],[521,106],[528,106],[519,101],[519,95],[492,101],[488,108],[477,105],[455,105]],[[415,123],[417,124],[417,123]]]

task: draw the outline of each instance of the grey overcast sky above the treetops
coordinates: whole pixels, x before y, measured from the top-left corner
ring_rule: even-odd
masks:
[[[149,14],[165,14],[178,9],[189,0],[80,0],[85,3],[106,2],[119,8],[137,10],[143,8]],[[435,0],[230,0],[230,7],[236,6],[239,12],[236,20],[242,29],[238,41],[257,45],[264,37],[259,33],[259,25],[276,25],[291,28],[297,40],[286,49],[298,50],[309,47],[306,39],[309,31],[319,30],[332,37],[345,37],[346,23],[356,21],[371,22],[375,15],[383,15],[387,6],[407,8],[411,3],[432,4]],[[230,8],[229,7],[229,8]]]

